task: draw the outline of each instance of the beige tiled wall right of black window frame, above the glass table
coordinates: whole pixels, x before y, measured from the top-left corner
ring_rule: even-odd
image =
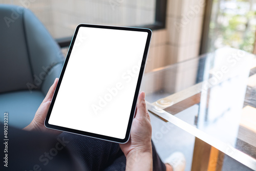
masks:
[[[153,32],[146,72],[199,55],[205,0],[167,0],[166,29]]]

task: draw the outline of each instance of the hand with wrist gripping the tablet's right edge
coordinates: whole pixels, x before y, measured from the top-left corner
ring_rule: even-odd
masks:
[[[146,110],[145,93],[138,97],[130,140],[120,144],[126,157],[126,170],[152,170],[152,126]]]

